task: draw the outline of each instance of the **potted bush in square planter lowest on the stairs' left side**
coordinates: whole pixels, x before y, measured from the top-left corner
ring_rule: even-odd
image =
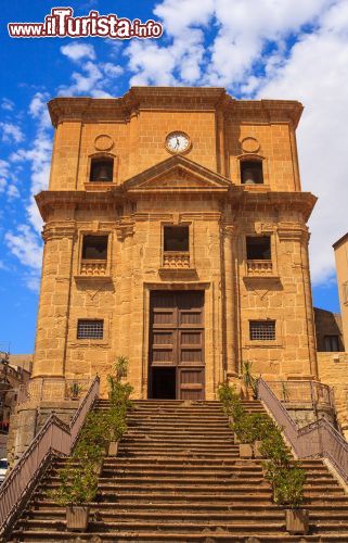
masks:
[[[66,529],[86,532],[89,522],[89,503],[98,491],[98,475],[91,465],[73,465],[70,462],[59,476],[60,487],[51,497],[66,507]]]

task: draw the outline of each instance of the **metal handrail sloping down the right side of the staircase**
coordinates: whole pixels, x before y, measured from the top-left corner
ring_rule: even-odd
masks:
[[[283,429],[298,458],[324,457],[348,483],[348,443],[325,418],[298,428],[284,405],[262,378],[257,381],[258,399]]]

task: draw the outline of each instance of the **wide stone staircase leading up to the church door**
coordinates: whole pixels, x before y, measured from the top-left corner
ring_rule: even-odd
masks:
[[[10,541],[348,543],[348,496],[321,460],[304,462],[309,535],[285,531],[261,462],[239,457],[218,402],[137,401],[128,418],[119,455],[104,460],[89,532],[67,532],[65,509],[47,497],[65,462],[56,458]]]

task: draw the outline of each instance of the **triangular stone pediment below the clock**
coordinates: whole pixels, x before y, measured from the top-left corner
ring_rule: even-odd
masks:
[[[231,181],[184,156],[171,156],[124,182],[126,191],[227,191]]]

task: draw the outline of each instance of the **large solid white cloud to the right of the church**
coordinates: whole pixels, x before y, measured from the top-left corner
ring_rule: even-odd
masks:
[[[302,189],[319,197],[310,219],[310,262],[313,282],[321,283],[335,270],[332,244],[348,229],[348,5],[328,10],[318,31],[302,36],[272,75],[260,97],[298,99],[306,106],[297,141]]]

